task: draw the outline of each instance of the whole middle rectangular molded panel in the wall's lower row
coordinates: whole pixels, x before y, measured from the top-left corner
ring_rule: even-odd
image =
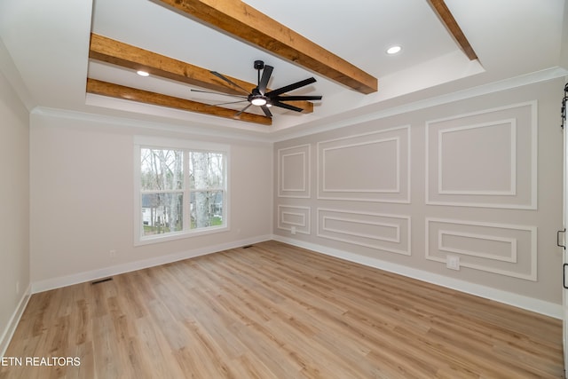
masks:
[[[411,255],[408,216],[319,208],[317,235],[328,240]]]

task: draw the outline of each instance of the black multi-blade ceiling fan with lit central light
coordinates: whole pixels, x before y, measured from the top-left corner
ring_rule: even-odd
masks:
[[[268,81],[270,80],[270,76],[272,75],[272,70],[274,69],[274,67],[264,65],[264,62],[262,60],[255,60],[254,67],[255,67],[256,71],[258,71],[258,74],[257,74],[258,81],[257,81],[256,87],[253,88],[252,91],[245,90],[239,84],[234,83],[232,80],[225,77],[224,75],[217,73],[217,71],[210,71],[211,74],[217,76],[219,79],[222,79],[226,83],[229,83],[229,84],[233,85],[234,87],[240,89],[241,91],[244,91],[245,93],[247,93],[247,96],[238,96],[238,95],[230,95],[230,94],[227,94],[227,93],[219,93],[220,95],[233,96],[233,97],[241,98],[242,100],[232,101],[232,102],[228,102],[228,103],[216,104],[216,106],[222,106],[222,105],[225,105],[225,104],[244,103],[244,102],[248,101],[248,105],[246,107],[242,108],[239,112],[237,112],[237,114],[235,114],[235,116],[238,116],[239,114],[246,111],[248,109],[248,107],[257,106],[257,107],[260,107],[263,110],[264,114],[267,117],[272,117],[272,113],[271,113],[270,109],[268,109],[269,107],[272,107],[272,106],[273,107],[281,107],[281,108],[289,109],[289,110],[296,111],[296,112],[302,112],[304,110],[300,107],[295,107],[295,106],[292,106],[290,104],[286,104],[283,101],[297,101],[297,100],[309,101],[309,100],[320,100],[321,99],[320,95],[314,95],[314,96],[305,96],[305,95],[286,96],[286,95],[283,95],[284,93],[286,93],[288,91],[294,91],[294,90],[296,90],[300,87],[304,87],[305,85],[315,83],[316,80],[313,77],[308,78],[308,79],[304,79],[300,82],[288,84],[284,87],[279,88],[278,90],[266,91],[266,85],[268,84]],[[261,70],[263,72],[262,77],[260,75]],[[199,91],[199,90],[192,90],[192,91],[215,93],[215,92]]]

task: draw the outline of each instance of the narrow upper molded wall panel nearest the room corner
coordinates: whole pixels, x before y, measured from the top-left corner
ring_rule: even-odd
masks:
[[[278,196],[310,197],[310,145],[278,150]]]

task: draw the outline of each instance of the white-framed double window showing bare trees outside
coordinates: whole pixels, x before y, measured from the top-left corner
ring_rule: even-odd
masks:
[[[138,243],[227,230],[228,148],[184,145],[136,138]]]

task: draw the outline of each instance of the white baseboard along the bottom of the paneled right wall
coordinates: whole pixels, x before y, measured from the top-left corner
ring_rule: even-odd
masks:
[[[441,287],[452,288],[470,295],[484,297],[499,303],[509,304],[527,311],[544,314],[562,320],[564,312],[561,304],[545,302],[533,297],[522,296],[501,289],[491,288],[465,280],[448,278],[433,272],[427,272],[405,265],[393,264],[372,257],[359,256],[340,249],[327,248],[312,242],[298,241],[281,235],[272,235],[272,240],[285,242],[299,248],[310,249],[331,257],[338,257],[361,265],[375,267],[384,271],[398,273],[409,278],[422,280]]]

